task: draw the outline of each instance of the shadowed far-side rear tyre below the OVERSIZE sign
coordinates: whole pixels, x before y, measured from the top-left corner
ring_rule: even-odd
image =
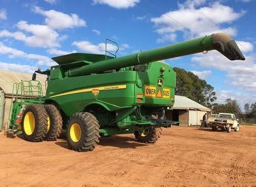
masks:
[[[144,130],[144,132],[135,131],[134,135],[137,141],[141,143],[153,144],[158,140],[158,138],[160,138],[160,129],[159,128],[146,129]]]

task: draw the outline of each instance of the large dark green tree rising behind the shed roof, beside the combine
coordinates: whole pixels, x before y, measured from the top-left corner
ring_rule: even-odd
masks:
[[[175,95],[185,96],[211,108],[213,102],[217,99],[214,88],[192,72],[187,72],[185,69],[178,67],[173,69],[176,72]]]

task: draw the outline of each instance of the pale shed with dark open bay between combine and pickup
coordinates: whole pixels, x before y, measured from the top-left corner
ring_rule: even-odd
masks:
[[[166,112],[166,118],[179,121],[181,126],[201,125],[203,115],[211,109],[184,96],[175,96],[173,107]]]

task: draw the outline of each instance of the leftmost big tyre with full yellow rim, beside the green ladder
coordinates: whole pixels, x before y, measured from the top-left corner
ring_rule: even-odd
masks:
[[[22,132],[27,141],[41,142],[47,131],[47,112],[44,105],[26,105],[22,116]]]

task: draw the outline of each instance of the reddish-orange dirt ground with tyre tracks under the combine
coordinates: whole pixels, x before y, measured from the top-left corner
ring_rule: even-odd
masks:
[[[132,134],[101,138],[91,152],[65,139],[30,143],[0,135],[1,186],[256,186],[256,127],[240,132],[163,129],[156,144]]]

